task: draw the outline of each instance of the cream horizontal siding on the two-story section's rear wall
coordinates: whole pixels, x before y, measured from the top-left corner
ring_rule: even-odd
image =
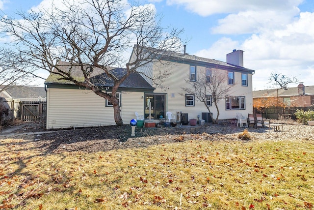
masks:
[[[197,116],[202,116],[202,112],[208,112],[205,104],[203,102],[197,101],[195,98],[195,106],[185,106],[185,94],[182,90],[183,87],[190,86],[186,83],[185,80],[189,81],[189,73],[190,73],[190,65],[184,63],[172,63],[171,65],[154,65],[154,73],[158,72],[157,68],[168,68],[170,70],[171,75],[164,81],[164,86],[168,87],[168,89],[156,89],[154,92],[162,93],[166,92],[168,95],[167,100],[167,111],[176,113],[183,112],[188,113],[188,119],[197,119]],[[196,66],[196,77],[199,77],[200,72],[205,72],[205,66]],[[226,73],[227,71],[221,70]],[[246,109],[245,110],[226,110],[225,108],[225,100],[221,100],[218,104],[219,109],[219,119],[233,119],[235,118],[235,114],[240,112],[243,116],[247,116],[248,113],[253,113],[253,99],[252,99],[252,74],[248,74],[248,86],[243,87],[241,85],[241,73],[235,72],[235,85],[230,90],[228,95],[232,96],[245,96]],[[227,80],[226,80],[227,83]],[[210,112],[213,113],[213,118],[217,117],[217,110],[212,104],[209,107]]]

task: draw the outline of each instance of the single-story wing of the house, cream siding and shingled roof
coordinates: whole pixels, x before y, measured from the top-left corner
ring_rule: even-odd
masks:
[[[70,68],[68,62],[59,62],[58,65],[63,68],[63,71]],[[116,71],[118,77],[125,71],[123,68],[114,67],[108,70]],[[71,71],[79,81],[82,77],[79,67],[75,66]],[[90,78],[94,83],[99,83],[103,91],[110,92],[112,81],[104,76],[102,69],[95,67]],[[69,81],[58,80],[57,75],[53,73],[46,79],[45,86],[47,89],[47,129],[115,124],[112,104],[93,91],[75,86]],[[143,112],[144,92],[153,91],[154,88],[137,73],[131,73],[120,85],[117,94],[124,123],[134,119],[135,112]]]

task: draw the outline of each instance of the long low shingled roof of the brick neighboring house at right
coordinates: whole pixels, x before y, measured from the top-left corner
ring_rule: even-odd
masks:
[[[299,95],[298,88],[279,89],[278,96],[295,96]],[[305,95],[314,95],[314,86],[305,86]],[[253,91],[253,98],[277,96],[277,89],[256,90]]]

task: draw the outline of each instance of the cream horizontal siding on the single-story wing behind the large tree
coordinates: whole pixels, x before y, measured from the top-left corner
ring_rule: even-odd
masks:
[[[143,112],[141,96],[141,92],[122,92],[120,109],[124,123],[135,118],[135,111]],[[106,107],[105,99],[94,92],[48,89],[47,129],[114,124],[113,108]]]

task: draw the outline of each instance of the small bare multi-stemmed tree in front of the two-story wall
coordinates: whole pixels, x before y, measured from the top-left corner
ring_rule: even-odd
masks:
[[[218,103],[221,100],[225,100],[226,95],[232,88],[227,85],[227,78],[226,71],[212,68],[210,76],[209,74],[206,75],[205,72],[201,72],[198,74],[198,79],[195,82],[191,82],[189,79],[185,80],[185,82],[190,84],[192,88],[182,88],[185,92],[193,94],[196,100],[204,103],[210,113],[213,123],[218,123]],[[212,103],[217,110],[216,119],[213,119],[212,113],[210,112]]]

